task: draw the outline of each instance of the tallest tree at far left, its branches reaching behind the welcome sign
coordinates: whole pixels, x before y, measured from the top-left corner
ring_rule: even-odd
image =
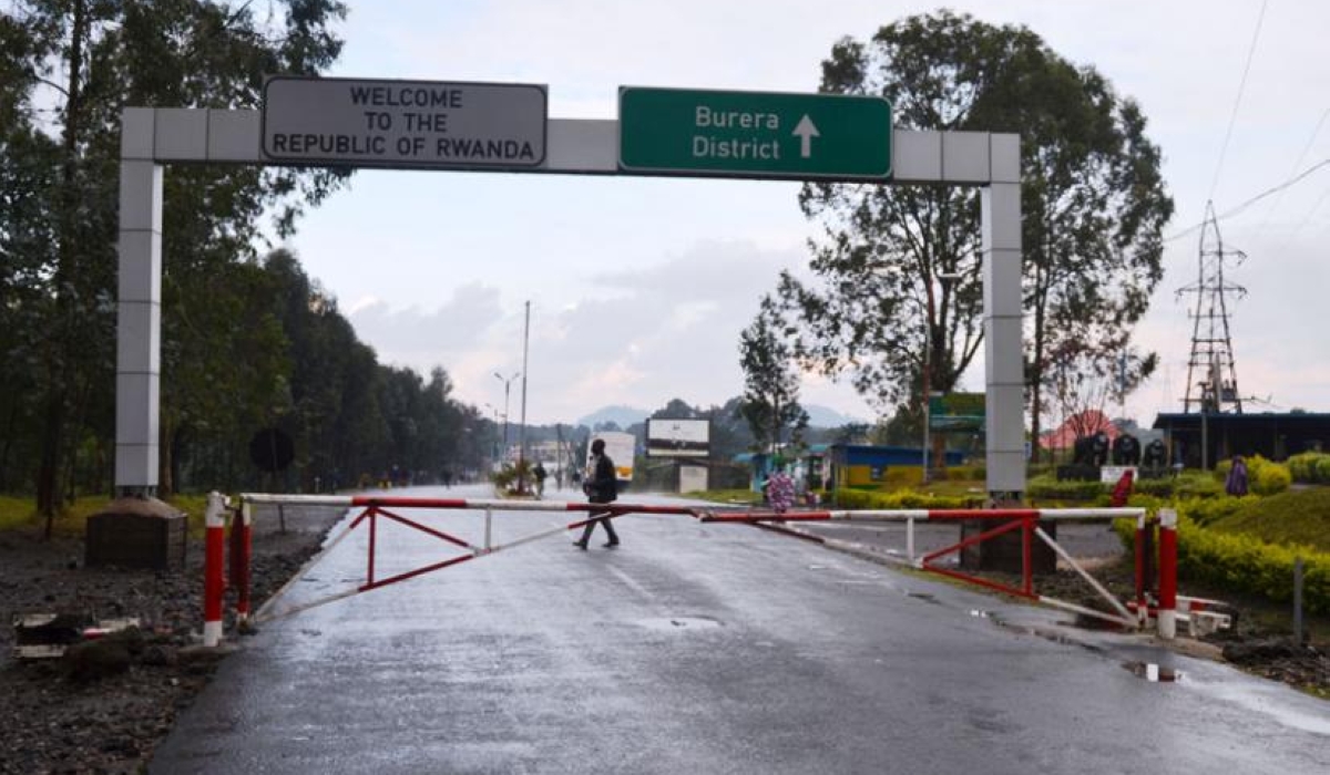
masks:
[[[27,271],[23,279],[36,288],[31,303],[16,307],[7,299],[5,307],[17,308],[17,319],[7,323],[43,338],[32,370],[40,396],[35,473],[43,512],[53,513],[65,496],[73,445],[89,432],[108,437],[113,423],[109,409],[93,423],[92,409],[106,405],[98,399],[114,383],[121,109],[255,108],[265,74],[314,74],[336,58],[342,43],[331,24],[344,12],[332,0],[13,0],[0,12],[3,156],[7,165],[40,173],[40,179],[0,177],[7,186],[0,199],[31,197],[36,213],[5,230],[35,233],[33,218],[49,223],[47,243],[24,253],[17,270],[8,262],[3,270],[5,288],[16,271]],[[190,328],[189,310],[226,292],[217,287],[226,279],[218,267],[251,255],[262,214],[274,213],[274,231],[289,234],[302,209],[342,178],[340,171],[172,169],[164,218],[164,298],[172,302],[162,326],[166,380],[182,358],[209,359],[218,351],[211,346],[219,332]],[[21,350],[24,343],[4,344]],[[198,429],[206,420],[180,408],[184,389],[164,395],[172,435],[181,423]]]

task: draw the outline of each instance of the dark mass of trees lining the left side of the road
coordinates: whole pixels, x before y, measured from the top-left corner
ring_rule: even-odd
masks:
[[[334,0],[16,0],[0,12],[0,489],[51,514],[109,491],[125,106],[254,109],[269,74],[342,51]],[[297,440],[298,484],[479,465],[491,429],[378,364],[283,251],[346,170],[176,165],[165,174],[161,489],[251,481],[245,441]],[[297,483],[293,483],[297,484]]]

